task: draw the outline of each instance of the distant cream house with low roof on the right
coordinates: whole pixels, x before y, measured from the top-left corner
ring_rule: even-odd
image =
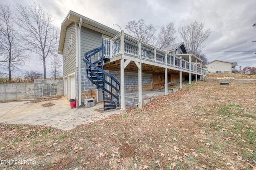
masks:
[[[237,63],[227,61],[214,60],[205,64],[209,73],[232,73],[232,68],[237,66]]]

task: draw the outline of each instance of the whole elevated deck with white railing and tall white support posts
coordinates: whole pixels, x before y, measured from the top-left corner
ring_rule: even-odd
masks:
[[[192,74],[206,76],[202,68],[202,60],[193,54],[172,55],[168,51],[158,49],[148,43],[121,31],[112,39],[103,39],[102,53],[109,61],[104,69],[120,70],[121,113],[125,113],[124,71],[138,72],[138,108],[142,108],[142,72],[164,74],[165,93],[168,94],[168,74],[188,75],[191,84]]]

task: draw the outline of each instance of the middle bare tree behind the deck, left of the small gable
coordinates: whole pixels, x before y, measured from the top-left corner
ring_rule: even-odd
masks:
[[[174,37],[175,33],[176,30],[173,22],[168,23],[166,26],[163,25],[160,33],[156,37],[156,47],[162,49],[173,45],[176,40],[176,37]]]

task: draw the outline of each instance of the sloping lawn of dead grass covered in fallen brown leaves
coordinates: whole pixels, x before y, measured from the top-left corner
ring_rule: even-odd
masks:
[[[71,131],[0,124],[0,169],[252,170],[255,84],[198,82]]]

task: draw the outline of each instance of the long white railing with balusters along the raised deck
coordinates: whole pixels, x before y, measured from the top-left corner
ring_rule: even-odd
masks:
[[[112,39],[104,38],[103,43],[103,50],[105,50],[104,57],[109,59],[124,54],[136,58],[141,57],[141,59],[146,61],[168,65],[173,67],[172,69],[174,70],[175,68],[179,68],[186,72],[190,72],[191,69],[191,73],[206,75],[205,69],[202,69],[195,64],[191,64],[167,51],[158,49],[140,39],[132,37],[123,31]]]

